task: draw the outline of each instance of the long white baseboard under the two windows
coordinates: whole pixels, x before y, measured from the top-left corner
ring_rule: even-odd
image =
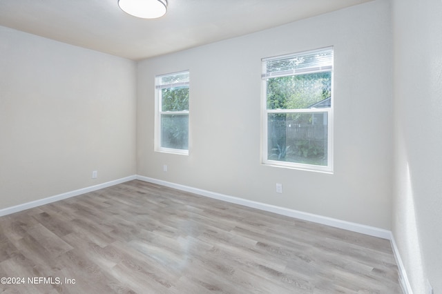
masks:
[[[149,182],[153,184],[159,184],[162,186],[167,186],[170,188],[175,188],[177,190],[183,190],[190,193],[195,193],[198,195],[223,200],[225,202],[231,202],[234,204],[240,204],[242,206],[247,206],[251,208],[257,208],[260,210],[269,211],[271,213],[277,213],[278,215],[285,215],[287,217],[294,217],[296,219],[302,219],[309,222],[315,222],[317,224],[325,224],[327,226],[333,226],[335,228],[343,228],[348,231],[353,231],[357,233],[362,233],[365,235],[370,235],[374,237],[380,237],[383,239],[390,239],[391,232],[384,230],[383,228],[376,228],[373,226],[365,226],[363,224],[356,224],[354,222],[347,222],[340,219],[334,219],[332,217],[324,217],[322,215],[314,215],[313,213],[305,213],[299,210],[289,209],[289,208],[283,208],[280,206],[274,206],[271,204],[265,204],[261,202],[255,202],[247,199],[242,199],[238,197],[233,197],[229,195],[223,195],[220,193],[213,193],[208,190],[202,190],[199,188],[192,188],[189,186],[184,186],[180,184],[174,184],[171,182],[162,181],[160,179],[153,179],[150,177],[143,177],[140,175],[137,175],[137,179],[140,179],[144,182]]]

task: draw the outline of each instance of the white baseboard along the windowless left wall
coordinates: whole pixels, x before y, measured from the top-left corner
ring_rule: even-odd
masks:
[[[44,204],[56,202],[56,201],[63,200],[63,199],[66,199],[66,198],[75,197],[75,196],[78,196],[78,195],[81,195],[81,194],[93,192],[95,190],[99,190],[99,189],[102,189],[102,188],[107,188],[107,187],[110,187],[110,186],[115,186],[117,184],[121,184],[121,183],[124,183],[124,182],[131,181],[133,179],[137,179],[137,176],[136,175],[131,175],[130,177],[123,177],[121,179],[115,179],[114,181],[111,181],[111,182],[106,182],[106,183],[103,183],[103,184],[97,184],[95,186],[81,188],[81,189],[78,189],[78,190],[73,190],[73,191],[70,191],[70,192],[67,192],[67,193],[61,193],[59,195],[47,197],[47,198],[44,198],[44,199],[39,199],[39,200],[35,200],[35,201],[32,201],[32,202],[27,202],[27,203],[24,203],[24,204],[19,204],[19,205],[16,205],[16,206],[11,206],[11,207],[8,207],[8,208],[3,208],[3,209],[0,209],[0,217],[2,217],[3,215],[10,215],[12,213],[18,213],[21,210],[26,210],[26,209],[29,209],[29,208],[34,208],[34,207],[37,207],[37,206],[41,206],[41,205],[44,205]]]

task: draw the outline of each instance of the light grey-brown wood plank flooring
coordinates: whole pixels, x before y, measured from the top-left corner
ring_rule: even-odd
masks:
[[[388,240],[140,181],[0,217],[0,277],[24,278],[1,293],[401,293]]]

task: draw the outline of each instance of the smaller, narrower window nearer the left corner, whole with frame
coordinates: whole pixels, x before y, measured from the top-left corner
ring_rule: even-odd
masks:
[[[189,71],[155,78],[155,150],[189,154]]]

